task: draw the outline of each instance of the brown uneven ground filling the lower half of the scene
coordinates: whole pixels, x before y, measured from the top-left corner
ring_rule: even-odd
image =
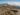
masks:
[[[11,10],[13,10],[13,11],[11,11]],[[14,12],[14,10],[15,11],[17,10],[18,12]],[[9,13],[9,11],[10,11],[10,13]],[[13,9],[13,8],[10,9],[9,7],[2,7],[2,8],[0,8],[0,15],[20,15],[20,9]]]

